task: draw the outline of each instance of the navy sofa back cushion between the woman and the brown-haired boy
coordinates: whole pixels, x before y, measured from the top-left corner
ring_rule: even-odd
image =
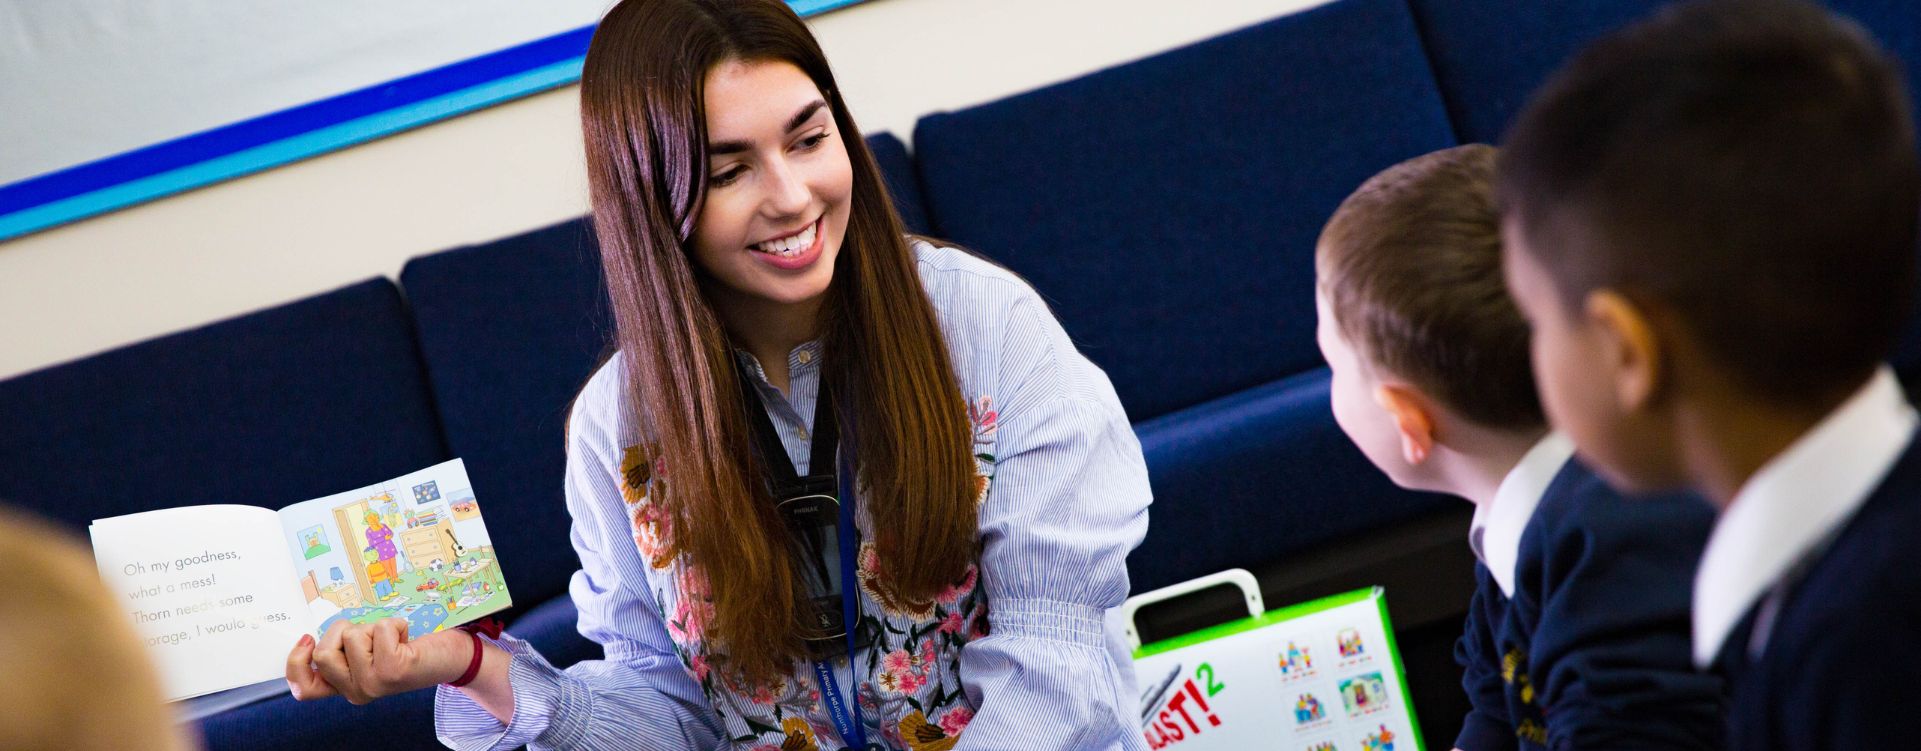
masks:
[[[1314,240],[1452,131],[1400,0],[1339,0],[914,131],[934,230],[1028,277],[1135,421],[1320,365]]]

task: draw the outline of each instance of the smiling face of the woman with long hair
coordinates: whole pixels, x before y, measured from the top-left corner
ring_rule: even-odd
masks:
[[[707,194],[693,259],[730,303],[811,303],[834,280],[853,167],[834,111],[786,61],[707,73]]]

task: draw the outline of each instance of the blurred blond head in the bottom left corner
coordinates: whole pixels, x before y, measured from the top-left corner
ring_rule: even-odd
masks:
[[[0,509],[0,749],[186,749],[85,547]]]

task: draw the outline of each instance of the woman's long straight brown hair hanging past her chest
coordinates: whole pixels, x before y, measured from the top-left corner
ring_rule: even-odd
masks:
[[[649,461],[665,465],[651,501],[695,592],[711,597],[713,657],[761,682],[803,653],[801,580],[761,480],[728,332],[690,254],[707,190],[703,83],[730,60],[807,73],[853,165],[851,219],[820,313],[822,382],[839,407],[843,449],[855,451],[882,586],[905,603],[930,601],[974,561],[980,521],[972,430],[939,323],[807,25],[780,0],[615,6],[588,46],[580,121],[619,357],[653,442]]]

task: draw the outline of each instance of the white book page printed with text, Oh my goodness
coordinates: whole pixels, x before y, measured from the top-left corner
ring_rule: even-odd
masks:
[[[190,505],[96,521],[94,561],[159,668],[167,699],[286,670],[309,628],[273,511]]]

